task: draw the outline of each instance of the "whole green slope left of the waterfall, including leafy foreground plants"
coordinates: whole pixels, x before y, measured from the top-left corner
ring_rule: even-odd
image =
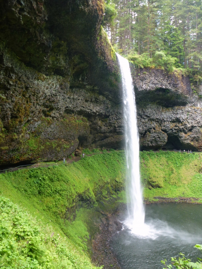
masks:
[[[124,152],[104,152],[0,174],[1,268],[94,268],[87,242],[102,210],[125,202],[124,159]]]

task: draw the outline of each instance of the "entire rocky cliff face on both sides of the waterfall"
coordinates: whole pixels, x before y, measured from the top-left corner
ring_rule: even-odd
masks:
[[[0,164],[123,148],[103,1],[0,0]],[[141,149],[202,150],[201,99],[182,74],[131,67]]]

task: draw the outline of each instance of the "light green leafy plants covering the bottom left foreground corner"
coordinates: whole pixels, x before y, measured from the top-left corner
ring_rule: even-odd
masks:
[[[95,269],[65,238],[0,197],[0,267],[2,269]]]

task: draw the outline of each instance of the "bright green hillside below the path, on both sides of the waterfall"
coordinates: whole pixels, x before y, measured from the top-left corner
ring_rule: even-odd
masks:
[[[200,154],[140,157],[145,200],[202,203]],[[126,203],[125,164],[124,151],[103,151],[68,165],[0,174],[1,268],[93,268],[91,241],[103,216]]]

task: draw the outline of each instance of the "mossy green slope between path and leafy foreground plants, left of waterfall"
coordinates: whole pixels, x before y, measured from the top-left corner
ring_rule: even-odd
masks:
[[[106,208],[112,210],[119,199],[122,201],[124,178],[124,154],[113,151],[85,157],[69,165],[1,174],[0,191],[12,199],[18,193],[19,200],[22,195],[32,201],[33,206],[54,220],[72,242],[87,251],[90,228],[83,218],[88,212],[99,211],[100,201],[105,211]]]

